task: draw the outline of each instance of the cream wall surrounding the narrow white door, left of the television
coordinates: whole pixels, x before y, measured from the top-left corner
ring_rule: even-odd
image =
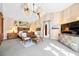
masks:
[[[41,34],[42,36],[44,36],[44,24],[43,22],[44,21],[50,21],[50,27],[49,27],[49,30],[50,30],[50,38],[51,39],[55,39],[57,40],[58,39],[58,34],[60,33],[60,20],[61,20],[61,13],[60,12],[55,12],[55,13],[49,13],[49,14],[46,14],[42,17],[42,30],[41,30]],[[58,28],[58,29],[52,29],[52,27],[54,28]]]

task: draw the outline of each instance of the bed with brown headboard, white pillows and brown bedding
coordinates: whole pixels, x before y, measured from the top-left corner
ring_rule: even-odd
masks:
[[[41,37],[38,37],[35,32],[28,32],[29,28],[22,28],[18,27],[18,37],[23,41],[26,42],[28,40],[32,40],[35,43],[42,41]]]

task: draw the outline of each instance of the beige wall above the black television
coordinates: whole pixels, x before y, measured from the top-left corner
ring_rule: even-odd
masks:
[[[79,20],[79,3],[75,3],[72,6],[66,8],[61,12],[61,14],[61,24]]]

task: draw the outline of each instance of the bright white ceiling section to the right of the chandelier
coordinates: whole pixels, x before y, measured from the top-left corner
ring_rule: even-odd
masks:
[[[44,12],[49,13],[49,12],[61,11],[72,4],[73,3],[38,3],[35,4],[35,6],[36,8],[40,6]],[[29,5],[32,8],[32,3],[30,3]]]

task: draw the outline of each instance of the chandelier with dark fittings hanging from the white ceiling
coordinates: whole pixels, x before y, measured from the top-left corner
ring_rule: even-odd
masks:
[[[37,17],[39,17],[40,19],[40,7],[38,7],[37,9],[35,9],[35,3],[29,5],[27,3],[24,3],[24,12],[27,16],[33,14],[36,15]]]

